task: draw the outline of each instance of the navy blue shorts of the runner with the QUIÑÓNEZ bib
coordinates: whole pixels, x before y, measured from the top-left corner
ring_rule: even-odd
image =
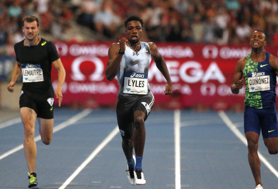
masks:
[[[275,106],[269,108],[253,108],[245,106],[244,132],[254,131],[263,138],[278,137],[278,123]]]

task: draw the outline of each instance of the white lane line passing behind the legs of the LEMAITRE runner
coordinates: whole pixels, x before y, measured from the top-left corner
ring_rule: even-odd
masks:
[[[91,113],[91,112],[92,112],[92,110],[90,110],[90,109],[83,110],[82,112],[80,112],[80,113],[76,114],[75,116],[69,118],[67,121],[57,125],[56,127],[54,127],[53,128],[53,133],[57,132],[57,131],[59,131],[59,130],[61,130],[61,129],[63,129],[63,128],[65,128],[65,127],[67,127],[67,126],[69,126],[69,125],[71,125],[73,123],[75,123],[79,119],[82,119],[83,117],[89,115],[89,113]],[[36,136],[34,138],[34,140],[35,140],[35,142],[41,140],[41,135]],[[8,152],[5,152],[4,154],[2,154],[0,156],[0,160],[5,158],[5,157],[7,157],[7,156],[9,156],[9,155],[11,155],[11,154],[13,154],[14,152],[17,152],[17,151],[21,150],[22,148],[23,148],[23,144],[13,148],[12,150],[10,150]]]

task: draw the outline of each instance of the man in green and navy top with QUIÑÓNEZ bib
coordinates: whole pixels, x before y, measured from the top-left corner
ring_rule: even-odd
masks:
[[[278,59],[264,50],[266,36],[262,31],[253,32],[250,45],[251,53],[235,65],[231,90],[234,94],[238,94],[245,81],[244,132],[248,142],[248,161],[256,182],[256,189],[263,189],[257,152],[260,132],[268,152],[278,153],[278,124],[275,110]]]

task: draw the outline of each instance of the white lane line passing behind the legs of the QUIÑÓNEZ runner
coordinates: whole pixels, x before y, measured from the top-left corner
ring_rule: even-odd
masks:
[[[228,128],[233,131],[233,133],[247,146],[247,140],[244,137],[244,135],[237,129],[237,127],[233,124],[233,122],[229,119],[229,117],[226,115],[224,111],[219,111],[218,115],[221,117],[221,119],[224,121],[224,123],[228,126]],[[266,167],[278,178],[278,172],[277,170],[266,160],[266,158],[261,155],[261,153],[258,151],[258,155],[260,160],[266,165]]]

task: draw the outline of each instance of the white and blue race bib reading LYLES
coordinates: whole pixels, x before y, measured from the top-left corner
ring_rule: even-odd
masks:
[[[148,94],[148,74],[125,72],[124,93],[146,95]]]

